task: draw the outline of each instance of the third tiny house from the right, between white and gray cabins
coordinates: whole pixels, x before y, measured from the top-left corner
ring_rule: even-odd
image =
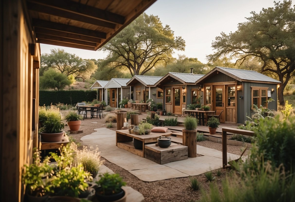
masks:
[[[127,86],[131,86],[134,100],[143,100],[146,102],[152,98],[155,103],[163,101],[163,90],[155,87],[155,83],[162,77],[139,76],[135,75],[127,82]]]

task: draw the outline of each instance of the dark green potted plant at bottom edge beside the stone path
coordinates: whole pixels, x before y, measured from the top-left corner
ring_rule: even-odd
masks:
[[[99,177],[100,180],[96,182],[98,187],[95,189],[95,195],[99,201],[126,201],[127,193],[122,189],[126,182],[119,174],[104,173]]]

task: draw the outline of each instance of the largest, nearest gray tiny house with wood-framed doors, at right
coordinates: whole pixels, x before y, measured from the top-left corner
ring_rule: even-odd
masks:
[[[281,82],[255,71],[215,67],[196,82],[212,110],[224,110],[223,123],[241,123],[253,115],[253,105],[277,110],[277,85]],[[272,98],[273,102],[268,102]]]

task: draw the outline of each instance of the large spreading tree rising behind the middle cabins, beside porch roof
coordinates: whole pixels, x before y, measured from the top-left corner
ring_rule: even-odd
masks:
[[[163,27],[158,16],[143,13],[102,47],[109,56],[100,67],[114,71],[127,67],[132,76],[143,75],[184,47],[185,41],[175,37],[168,25]]]

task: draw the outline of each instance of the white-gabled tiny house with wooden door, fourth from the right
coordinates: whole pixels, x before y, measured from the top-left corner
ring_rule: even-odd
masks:
[[[130,79],[112,78],[109,80],[104,86],[106,105],[119,107],[119,102],[123,97],[130,99],[131,87],[126,85],[128,81]]]

